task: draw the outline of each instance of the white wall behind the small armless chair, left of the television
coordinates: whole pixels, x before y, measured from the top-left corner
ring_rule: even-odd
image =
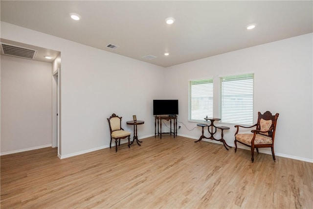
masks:
[[[145,121],[138,137],[154,135],[152,101],[163,92],[164,68],[5,22],[1,38],[61,52],[61,158],[108,147],[112,113],[129,130],[137,115]]]

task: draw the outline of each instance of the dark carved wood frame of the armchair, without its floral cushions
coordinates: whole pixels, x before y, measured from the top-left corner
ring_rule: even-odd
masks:
[[[257,153],[259,153],[259,149],[258,148],[262,148],[262,147],[270,147],[271,148],[272,157],[273,157],[273,160],[275,161],[276,159],[275,159],[275,154],[274,154],[274,139],[275,139],[275,130],[276,130],[276,123],[277,123],[278,116],[279,116],[278,113],[276,113],[273,116],[269,111],[266,111],[263,115],[260,112],[258,112],[258,121],[253,126],[245,127],[245,126],[241,126],[241,125],[235,125],[235,128],[237,128],[237,131],[235,133],[235,146],[236,146],[235,147],[235,152],[237,151],[237,141],[238,140],[236,139],[236,135],[238,134],[239,127],[242,127],[242,128],[256,127],[255,130],[251,130],[251,132],[253,133],[253,137],[251,139],[251,145],[245,144],[245,143],[243,143],[241,141],[238,141],[238,142],[251,148],[251,161],[252,161],[252,163],[254,161],[254,158],[253,158],[254,148],[256,148]],[[272,124],[271,124],[270,128],[268,130],[266,130],[266,131],[260,131],[260,129],[261,129],[260,121],[261,121],[262,118],[264,120],[272,120]],[[268,133],[268,135],[265,135],[263,133]],[[271,144],[254,144],[254,139],[255,139],[255,136],[257,134],[262,134],[262,135],[265,135],[267,137],[270,137],[272,139],[272,143]]]

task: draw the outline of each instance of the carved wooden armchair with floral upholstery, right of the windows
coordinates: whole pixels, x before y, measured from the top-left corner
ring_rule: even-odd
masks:
[[[253,154],[254,148],[256,148],[257,153],[261,147],[270,147],[272,151],[273,160],[275,161],[274,154],[274,138],[276,130],[276,122],[279,114],[276,113],[274,116],[269,111],[266,111],[263,115],[258,113],[258,121],[256,124],[250,127],[244,127],[240,125],[235,125],[237,131],[235,133],[235,152],[237,151],[237,142],[244,144],[251,148],[251,160],[254,161]],[[238,134],[239,127],[242,128],[252,128],[256,129],[251,130],[252,134]]]

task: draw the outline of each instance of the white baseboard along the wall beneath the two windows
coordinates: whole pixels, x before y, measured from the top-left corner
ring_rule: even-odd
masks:
[[[199,138],[195,138],[195,137],[191,137],[191,136],[186,136],[186,135],[181,135],[181,134],[178,134],[178,136],[182,136],[182,137],[186,137],[186,138],[190,138],[190,139],[199,139]],[[216,140],[210,140],[210,139],[202,139],[202,141],[208,141],[208,142],[211,142],[211,143],[217,143],[217,144],[222,144],[222,142],[220,141],[216,141]],[[231,147],[235,147],[235,144],[232,143],[227,143],[229,146]],[[237,148],[239,149],[246,149],[246,150],[250,150],[249,147],[247,146],[242,146],[242,145],[239,145],[237,143]],[[268,155],[272,155],[272,152],[271,151],[268,151],[268,150],[263,150],[262,148],[259,149],[259,152],[260,153],[264,153],[264,154],[268,154]],[[279,156],[279,157],[283,157],[283,158],[290,158],[290,159],[293,159],[293,160],[298,160],[298,161],[304,161],[304,162],[309,162],[309,163],[313,163],[313,159],[308,159],[308,158],[300,158],[300,157],[297,157],[297,156],[292,156],[292,155],[286,155],[286,154],[282,154],[282,153],[276,153],[275,152],[275,156]]]

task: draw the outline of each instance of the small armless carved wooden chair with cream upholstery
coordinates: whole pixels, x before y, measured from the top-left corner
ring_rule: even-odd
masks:
[[[118,146],[121,144],[121,139],[128,138],[128,147],[130,147],[130,139],[131,139],[131,132],[124,131],[124,129],[121,127],[121,121],[122,117],[116,116],[114,113],[112,116],[107,118],[109,121],[110,126],[110,148],[112,139],[115,139],[115,152],[117,152],[117,140],[118,140]]]

